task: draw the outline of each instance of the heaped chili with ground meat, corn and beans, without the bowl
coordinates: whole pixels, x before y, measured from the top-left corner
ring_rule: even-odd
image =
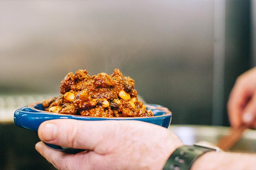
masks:
[[[137,98],[135,82],[119,69],[111,75],[88,75],[86,70],[68,73],[61,81],[59,97],[46,99],[45,111],[93,117],[149,117],[143,102]]]

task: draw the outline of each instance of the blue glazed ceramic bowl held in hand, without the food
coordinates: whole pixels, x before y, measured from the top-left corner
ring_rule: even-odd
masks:
[[[75,119],[75,120],[139,120],[152,124],[157,124],[168,128],[172,120],[172,113],[161,105],[145,104],[147,110],[152,110],[154,116],[152,117],[132,117],[132,118],[102,118],[102,117],[87,117],[67,114],[57,114],[48,111],[44,111],[41,102],[31,103],[25,107],[17,109],[14,113],[14,122],[17,126],[25,129],[37,131],[39,125],[46,120],[53,119]],[[60,150],[66,153],[78,153],[82,150],[73,148],[64,148],[62,146],[56,146],[52,144],[46,144],[47,146]]]

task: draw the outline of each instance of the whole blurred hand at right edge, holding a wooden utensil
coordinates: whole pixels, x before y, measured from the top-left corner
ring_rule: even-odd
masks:
[[[227,109],[232,127],[244,124],[256,129],[256,67],[236,79]]]

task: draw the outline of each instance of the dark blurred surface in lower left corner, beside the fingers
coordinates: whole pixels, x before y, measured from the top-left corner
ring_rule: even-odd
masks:
[[[1,170],[56,170],[36,150],[37,133],[16,126],[0,124]]]

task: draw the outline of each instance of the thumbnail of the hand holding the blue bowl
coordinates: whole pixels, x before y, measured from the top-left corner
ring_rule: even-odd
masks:
[[[46,123],[43,127],[42,127],[42,140],[43,141],[51,141],[56,139],[56,135],[57,135],[57,126],[53,123]]]

